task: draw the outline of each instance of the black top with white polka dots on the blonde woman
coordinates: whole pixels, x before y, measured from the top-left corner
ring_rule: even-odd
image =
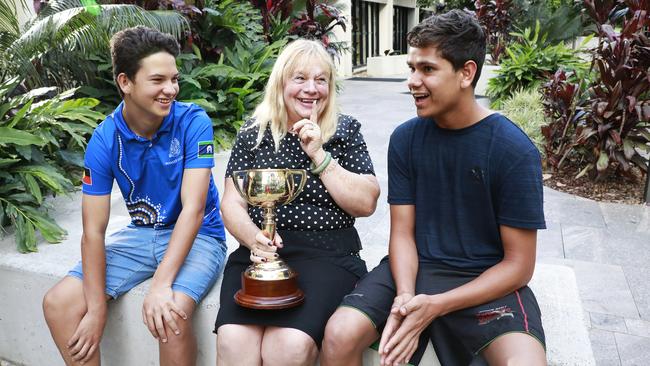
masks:
[[[309,170],[311,160],[300,148],[297,135],[287,134],[275,152],[271,127],[256,148],[258,126],[250,128],[247,121],[237,134],[226,177],[233,171],[259,168],[288,168],[307,170],[307,183],[302,193],[288,205],[276,207],[277,228],[280,230],[334,230],[354,225],[354,217],[343,211],[332,199],[317,175]],[[374,169],[368,148],[356,119],[339,115],[336,133],[323,145],[325,151],[346,170],[358,174],[372,174]],[[262,223],[262,209],[250,206],[248,214],[257,225]]]

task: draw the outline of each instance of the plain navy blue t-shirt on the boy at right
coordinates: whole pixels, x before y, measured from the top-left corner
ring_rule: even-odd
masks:
[[[388,148],[388,203],[415,205],[420,261],[487,269],[503,259],[499,225],[544,229],[539,152],[500,114],[458,130],[414,118]]]

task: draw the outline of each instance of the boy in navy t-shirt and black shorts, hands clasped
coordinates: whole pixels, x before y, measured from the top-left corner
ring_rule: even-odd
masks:
[[[417,118],[388,150],[389,257],[330,318],[321,365],[360,365],[379,339],[382,365],[545,365],[544,331],[526,284],[544,229],[540,156],[474,87],[485,35],[454,10],[409,32]],[[383,329],[383,330],[382,330]]]

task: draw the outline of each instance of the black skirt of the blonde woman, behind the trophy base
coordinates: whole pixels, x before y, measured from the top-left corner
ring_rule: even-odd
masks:
[[[320,348],[327,320],[367,273],[359,257],[356,229],[330,231],[280,230],[284,247],[280,258],[298,272],[298,285],[305,293],[303,304],[282,310],[248,309],[235,303],[241,289],[241,273],[251,264],[250,251],[240,246],[229,257],[223,274],[219,313],[214,332],[224,324],[294,328],[307,333]]]

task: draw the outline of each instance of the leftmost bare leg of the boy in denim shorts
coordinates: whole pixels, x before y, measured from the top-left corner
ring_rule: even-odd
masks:
[[[110,297],[107,295],[106,299]],[[83,357],[75,361],[70,355],[68,342],[74,335],[87,312],[86,300],[83,294],[83,283],[76,277],[66,276],[52,287],[43,297],[43,314],[66,365],[80,365]],[[106,319],[104,318],[105,322]],[[79,356],[84,356],[90,349],[81,350]],[[99,365],[99,345],[93,349],[92,356],[84,365]]]

